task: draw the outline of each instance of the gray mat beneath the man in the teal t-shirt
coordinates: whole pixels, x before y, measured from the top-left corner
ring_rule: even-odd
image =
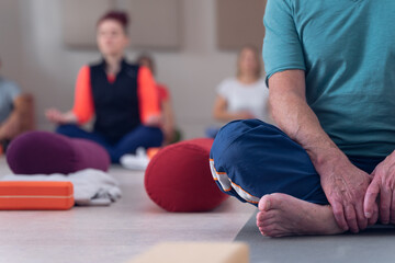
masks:
[[[252,215],[236,241],[250,247],[251,263],[395,262],[395,228],[374,226],[359,235],[330,237],[262,237]]]

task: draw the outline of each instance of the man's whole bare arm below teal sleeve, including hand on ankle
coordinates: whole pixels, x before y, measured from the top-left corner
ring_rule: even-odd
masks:
[[[363,197],[371,178],[356,168],[325,133],[306,101],[305,72],[285,70],[269,79],[270,105],[278,126],[308,153],[320,175],[335,218],[345,231],[358,232],[368,226]],[[395,202],[394,202],[395,205]],[[374,221],[377,208],[372,205]]]

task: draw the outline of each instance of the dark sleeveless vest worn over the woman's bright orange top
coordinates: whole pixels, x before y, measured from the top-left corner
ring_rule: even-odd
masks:
[[[97,117],[94,132],[103,135],[112,145],[140,124],[137,73],[138,66],[122,60],[115,81],[110,83],[104,60],[90,66]]]

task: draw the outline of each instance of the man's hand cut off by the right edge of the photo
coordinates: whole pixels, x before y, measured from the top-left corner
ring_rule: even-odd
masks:
[[[395,152],[374,169],[372,176],[373,181],[364,197],[365,217],[374,217],[376,199],[380,198],[381,222],[395,224]]]

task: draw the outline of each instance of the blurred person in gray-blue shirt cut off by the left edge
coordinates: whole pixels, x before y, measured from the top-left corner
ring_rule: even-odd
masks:
[[[13,138],[34,128],[33,115],[32,96],[22,94],[15,82],[0,76],[0,153]]]

